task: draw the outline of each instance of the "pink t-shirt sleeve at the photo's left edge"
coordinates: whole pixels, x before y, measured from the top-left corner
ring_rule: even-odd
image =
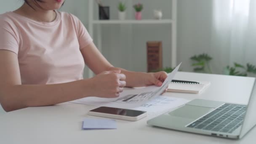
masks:
[[[13,51],[18,54],[19,37],[15,25],[0,16],[0,50]]]

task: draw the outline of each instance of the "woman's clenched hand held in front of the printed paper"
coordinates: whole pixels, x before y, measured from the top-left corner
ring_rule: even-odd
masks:
[[[115,98],[123,92],[125,75],[120,70],[105,71],[91,78],[91,96]]]

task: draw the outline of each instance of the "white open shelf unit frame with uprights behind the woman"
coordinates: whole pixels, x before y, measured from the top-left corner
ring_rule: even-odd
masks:
[[[101,24],[170,24],[171,25],[171,67],[176,66],[177,61],[177,0],[172,0],[172,16],[171,19],[144,19],[144,20],[94,20],[93,19],[93,3],[95,0],[89,0],[89,24],[88,24],[88,32],[93,37],[93,27],[94,25],[101,25]],[[97,48],[101,52],[101,27],[97,28]],[[93,77],[93,72],[89,70],[88,77]]]

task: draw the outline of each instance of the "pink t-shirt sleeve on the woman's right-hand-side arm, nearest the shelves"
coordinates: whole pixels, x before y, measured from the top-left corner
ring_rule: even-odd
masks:
[[[76,31],[77,31],[77,38],[79,42],[80,49],[85,48],[88,44],[90,44],[93,39],[89,35],[87,29],[83,25],[83,23],[74,15],[71,14],[75,23],[76,23]]]

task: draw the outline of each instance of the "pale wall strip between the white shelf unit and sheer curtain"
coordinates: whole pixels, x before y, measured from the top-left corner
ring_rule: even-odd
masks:
[[[178,0],[177,53],[182,71],[192,71],[195,54],[208,53],[211,48],[212,0]]]

